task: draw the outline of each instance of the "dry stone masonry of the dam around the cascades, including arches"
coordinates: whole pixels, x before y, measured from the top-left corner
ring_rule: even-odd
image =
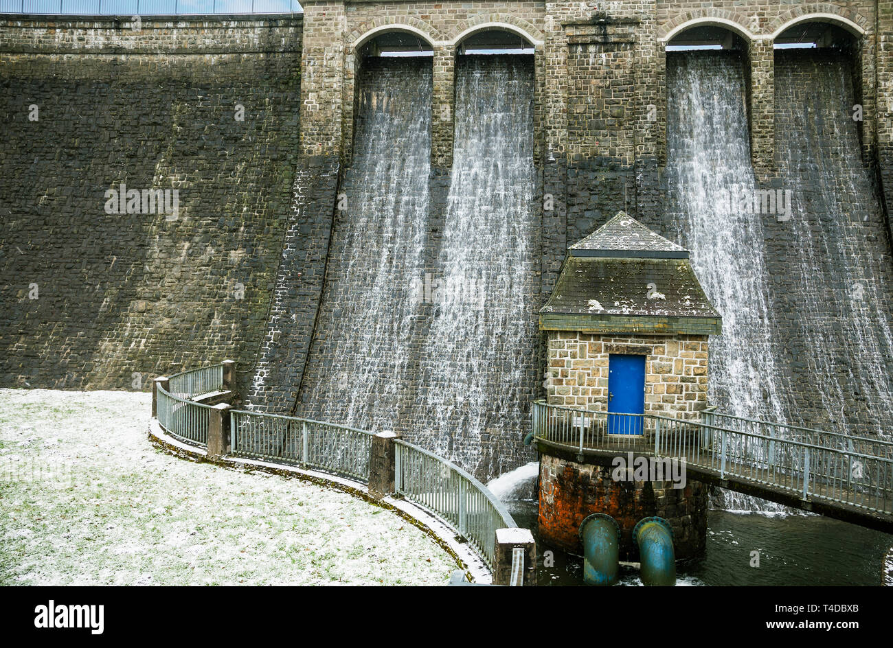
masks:
[[[864,162],[889,205],[889,0],[308,0],[303,17],[180,16],[139,29],[113,17],[4,18],[0,383],[129,388],[135,372],[230,356],[243,386],[263,376],[258,397],[277,410],[294,403],[338,174],[350,163],[355,53],[381,29],[411,31],[434,50],[432,227],[450,184],[457,47],[494,24],[530,38],[545,297],[567,245],[617,211],[672,231],[662,167],[673,29],[721,24],[747,42],[752,157],[772,185],[784,127],[772,35],[814,13],[839,16],[858,34]],[[38,121],[28,119],[32,104]],[[232,119],[236,104],[245,121]],[[178,220],[105,214],[104,191],[121,182],[178,188]],[[886,208],[880,218],[878,227],[889,228]],[[786,236],[770,236],[780,293],[791,274]],[[889,266],[889,242],[872,245]],[[37,299],[29,299],[32,284]]]

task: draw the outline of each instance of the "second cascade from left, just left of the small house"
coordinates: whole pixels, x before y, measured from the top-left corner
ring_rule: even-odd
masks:
[[[529,58],[457,62],[453,175],[434,320],[422,353],[426,444],[485,476],[501,472],[500,444],[520,444],[530,399],[524,386],[536,379]]]

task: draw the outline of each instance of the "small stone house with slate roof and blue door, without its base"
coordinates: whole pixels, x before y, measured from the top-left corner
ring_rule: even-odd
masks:
[[[568,249],[539,328],[549,404],[607,411],[618,372],[636,380],[638,363],[644,411],[681,418],[706,406],[707,336],[722,319],[689,252],[625,212]]]

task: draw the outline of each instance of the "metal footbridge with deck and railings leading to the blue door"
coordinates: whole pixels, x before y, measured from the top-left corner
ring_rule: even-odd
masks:
[[[683,420],[537,401],[531,415],[543,453],[607,466],[627,453],[685,461],[698,481],[893,533],[893,441],[714,410]]]

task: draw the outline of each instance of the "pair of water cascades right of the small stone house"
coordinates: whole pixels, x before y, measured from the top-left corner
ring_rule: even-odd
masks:
[[[791,199],[761,213],[738,54],[667,57],[667,221],[723,317],[710,400],[748,418],[889,435],[890,247],[846,58],[776,54],[775,84],[776,182]],[[780,508],[723,493],[726,508]]]

